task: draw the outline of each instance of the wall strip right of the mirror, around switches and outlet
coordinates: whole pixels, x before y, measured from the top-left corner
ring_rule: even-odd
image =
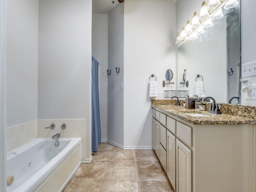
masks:
[[[256,1],[242,1],[241,5],[241,64],[256,62]],[[249,84],[256,84],[256,76],[242,78]],[[255,100],[245,100],[246,93],[241,92],[241,104],[256,105]]]

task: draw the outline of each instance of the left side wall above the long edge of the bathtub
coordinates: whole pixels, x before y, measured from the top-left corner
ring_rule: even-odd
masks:
[[[8,0],[6,31],[9,127],[37,119],[38,0]]]

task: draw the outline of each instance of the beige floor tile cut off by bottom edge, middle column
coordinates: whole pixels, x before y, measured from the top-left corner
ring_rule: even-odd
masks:
[[[104,179],[100,192],[138,192],[137,179]]]

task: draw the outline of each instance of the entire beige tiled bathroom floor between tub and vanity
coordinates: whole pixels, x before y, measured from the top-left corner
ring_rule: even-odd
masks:
[[[174,192],[153,150],[122,150],[100,143],[63,192]]]

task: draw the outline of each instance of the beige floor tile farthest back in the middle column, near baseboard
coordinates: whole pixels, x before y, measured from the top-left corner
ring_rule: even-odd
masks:
[[[110,154],[110,160],[135,160],[134,150],[113,148]]]

